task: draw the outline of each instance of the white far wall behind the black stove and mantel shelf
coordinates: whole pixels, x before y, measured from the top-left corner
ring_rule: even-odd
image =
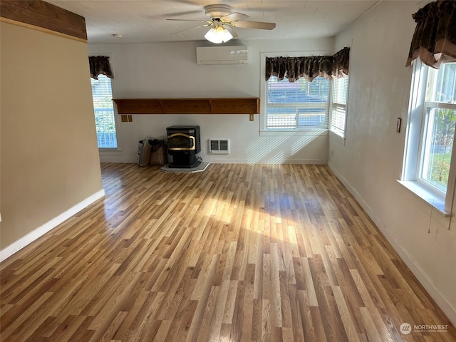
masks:
[[[90,54],[109,53],[114,73],[114,98],[242,98],[261,97],[260,54],[303,51],[307,56],[332,54],[333,38],[283,41],[232,41],[247,45],[247,65],[198,66],[196,47],[206,41],[89,45]],[[285,53],[284,53],[285,55]],[[138,140],[166,135],[170,125],[199,125],[202,151],[211,162],[326,163],[327,135],[259,136],[259,115],[133,115],[119,123],[120,152],[102,152],[101,161],[135,162]],[[208,138],[230,139],[229,155],[209,155]]]

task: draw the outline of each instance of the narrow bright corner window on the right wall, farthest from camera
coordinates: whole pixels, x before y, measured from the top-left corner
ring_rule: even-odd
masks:
[[[331,125],[329,129],[345,138],[345,125],[348,103],[348,76],[333,80],[333,95],[331,101]]]

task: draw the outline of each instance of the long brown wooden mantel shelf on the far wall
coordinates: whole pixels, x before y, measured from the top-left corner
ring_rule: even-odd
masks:
[[[119,114],[259,114],[259,98],[115,98]]]

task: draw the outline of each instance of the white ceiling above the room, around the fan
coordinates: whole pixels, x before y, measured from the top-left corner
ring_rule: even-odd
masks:
[[[209,4],[229,4],[245,21],[276,23],[271,31],[234,28],[238,39],[320,38],[335,36],[363,16],[379,0],[47,0],[86,18],[88,43],[198,41],[208,28],[195,28]],[[167,21],[166,19],[195,19]],[[175,34],[172,34],[175,33]],[[114,38],[121,34],[122,38]]]

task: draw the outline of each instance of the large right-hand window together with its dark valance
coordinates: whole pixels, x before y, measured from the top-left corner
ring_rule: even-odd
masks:
[[[454,214],[456,165],[456,1],[412,15],[413,64],[401,184],[442,214]]]

